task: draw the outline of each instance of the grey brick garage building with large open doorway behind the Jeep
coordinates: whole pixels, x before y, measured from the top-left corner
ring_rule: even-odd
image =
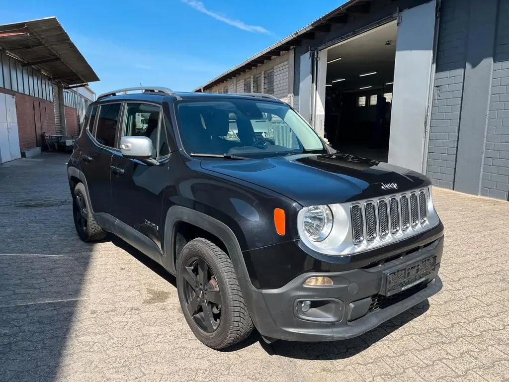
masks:
[[[195,91],[234,89],[338,150],[509,198],[509,0],[350,0]]]

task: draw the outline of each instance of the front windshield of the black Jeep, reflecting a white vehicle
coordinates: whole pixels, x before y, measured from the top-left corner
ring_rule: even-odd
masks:
[[[180,136],[188,154],[253,158],[325,153],[315,131],[282,103],[248,99],[182,101]]]

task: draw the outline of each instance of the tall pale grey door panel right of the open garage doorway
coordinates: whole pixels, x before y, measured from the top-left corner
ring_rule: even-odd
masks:
[[[436,0],[401,13],[396,41],[389,163],[421,172],[435,38]]]

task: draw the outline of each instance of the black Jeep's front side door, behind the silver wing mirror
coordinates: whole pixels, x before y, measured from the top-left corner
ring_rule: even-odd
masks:
[[[150,103],[126,103],[122,136],[142,135],[152,140],[158,165],[124,158],[111,159],[112,214],[148,237],[161,250],[162,202],[167,185],[169,154],[161,107]]]

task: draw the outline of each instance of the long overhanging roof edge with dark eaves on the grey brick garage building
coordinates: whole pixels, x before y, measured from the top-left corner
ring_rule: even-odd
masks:
[[[300,45],[302,40],[304,39],[313,39],[315,37],[316,32],[327,32],[328,28],[330,28],[329,20],[337,17],[340,18],[342,16],[346,16],[346,11],[348,8],[356,5],[362,6],[363,4],[371,3],[372,0],[349,0],[343,5],[333,9],[332,11],[326,13],[322,17],[317,18],[316,20],[310,22],[303,28],[299,29],[297,32],[292,33],[290,36],[276,42],[275,44],[269,46],[267,49],[262,50],[261,52],[255,54],[254,56],[248,58],[243,63],[237,65],[236,67],[218,75],[216,78],[212,79],[208,83],[196,88],[193,92],[200,92],[202,89],[208,89],[219,85],[220,83],[236,77],[237,75],[244,73],[248,70],[251,70],[263,62],[270,61],[272,57],[279,56],[281,52],[285,52],[290,50],[291,48]],[[344,18],[346,22],[347,18]],[[336,21],[337,22],[337,21]]]

